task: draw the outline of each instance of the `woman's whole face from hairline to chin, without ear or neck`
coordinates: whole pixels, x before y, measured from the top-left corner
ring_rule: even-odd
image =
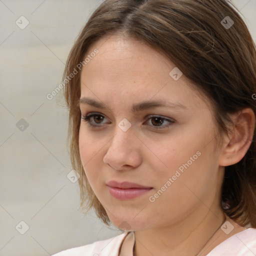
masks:
[[[145,43],[117,35],[87,54],[80,109],[94,112],[87,120],[95,126],[81,119],[80,157],[111,222],[124,230],[164,227],[220,209],[213,115],[187,78]]]

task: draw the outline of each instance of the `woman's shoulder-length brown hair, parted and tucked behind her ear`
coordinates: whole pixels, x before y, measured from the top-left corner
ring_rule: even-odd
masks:
[[[227,17],[231,27],[224,27]],[[229,22],[229,21],[228,21]],[[235,6],[226,0],[105,0],[91,14],[67,58],[63,77],[83,61],[103,36],[125,34],[162,52],[206,96],[221,143],[230,130],[229,114],[249,107],[256,114],[256,47]],[[65,80],[69,109],[68,142],[73,169],[79,174],[80,206],[94,208],[110,224],[104,207],[85,176],[79,154],[80,71]],[[244,157],[225,167],[221,187],[223,212],[241,226],[256,227],[255,129]]]

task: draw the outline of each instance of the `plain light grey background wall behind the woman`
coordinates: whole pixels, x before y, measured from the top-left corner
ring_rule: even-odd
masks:
[[[46,98],[101,2],[0,0],[0,256],[47,256],[121,233],[79,211],[78,183],[66,177],[67,111],[61,93]],[[255,41],[256,0],[233,2]],[[21,15],[29,21],[24,29],[15,24]],[[21,220],[29,226],[24,234]]]

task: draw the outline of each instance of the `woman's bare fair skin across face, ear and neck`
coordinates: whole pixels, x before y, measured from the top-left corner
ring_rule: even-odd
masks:
[[[249,147],[246,141],[254,130],[253,111],[248,108],[232,116],[239,129],[225,135],[215,150],[216,126],[209,104],[184,75],[177,81],[170,77],[175,64],[145,43],[123,35],[101,38],[88,52],[95,48],[99,53],[81,71],[81,97],[104,102],[108,109],[81,104],[81,115],[97,112],[103,118],[98,122],[90,118],[100,128],[81,120],[79,130],[80,157],[95,195],[115,226],[125,221],[123,230],[134,230],[136,255],[206,255],[244,229],[230,219],[231,233],[218,229],[226,217],[220,191],[224,166],[238,162]],[[156,99],[177,102],[187,109],[130,111],[133,103]],[[157,129],[148,115],[174,123],[166,127],[164,121],[165,128]],[[131,123],[127,131],[118,127],[123,118]],[[200,156],[150,202],[149,196],[197,151]],[[118,200],[105,185],[109,180],[153,189],[134,199]]]

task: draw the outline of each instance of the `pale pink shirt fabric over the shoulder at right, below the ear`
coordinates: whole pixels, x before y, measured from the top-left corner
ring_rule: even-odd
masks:
[[[249,227],[227,238],[206,256],[256,255],[256,228]]]

